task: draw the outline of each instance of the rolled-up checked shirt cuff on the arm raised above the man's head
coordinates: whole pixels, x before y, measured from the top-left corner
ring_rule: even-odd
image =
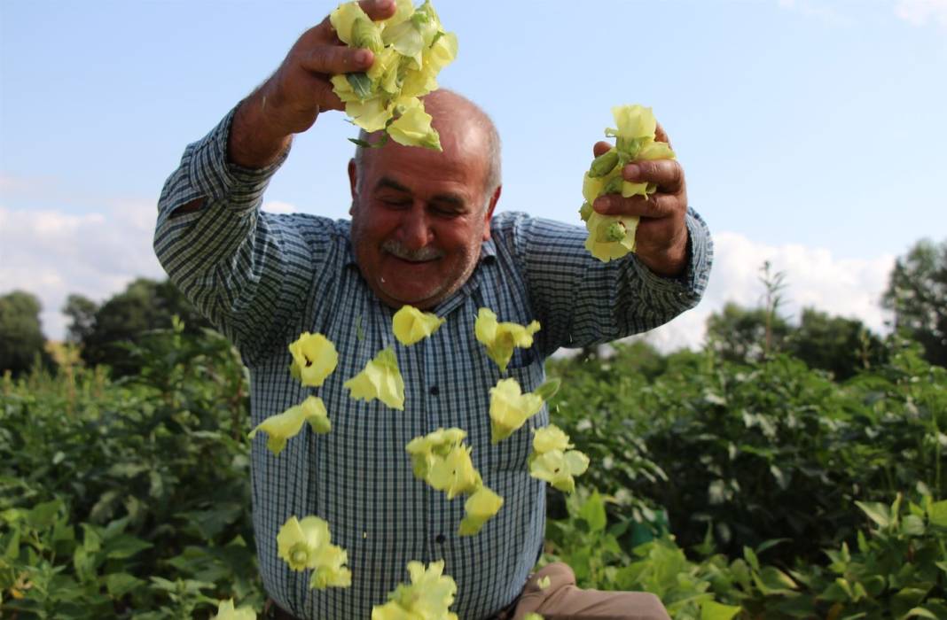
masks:
[[[243,168],[227,161],[227,142],[237,107],[204,138],[188,147],[188,179],[202,195],[221,201],[232,210],[255,208],[277,169],[289,156],[290,149],[279,154],[266,168]]]

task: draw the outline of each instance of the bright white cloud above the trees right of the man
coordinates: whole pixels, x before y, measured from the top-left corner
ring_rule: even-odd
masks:
[[[783,272],[786,288],[782,312],[798,320],[804,307],[861,320],[885,331],[888,318],[880,301],[895,257],[871,259],[833,257],[824,248],[756,243],[737,233],[714,235],[714,265],[704,299],[668,325],[648,335],[649,342],[668,351],[704,342],[707,317],[728,301],[746,307],[762,304],[760,267],[769,260],[772,272]]]

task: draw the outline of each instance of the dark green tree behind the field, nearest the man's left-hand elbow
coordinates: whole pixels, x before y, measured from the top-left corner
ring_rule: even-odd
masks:
[[[188,333],[210,327],[170,280],[138,278],[98,308],[95,321],[81,342],[82,360],[89,365],[112,366],[116,377],[135,374],[140,363],[132,359],[122,343],[152,329],[170,328],[171,317],[175,315],[184,322]]]

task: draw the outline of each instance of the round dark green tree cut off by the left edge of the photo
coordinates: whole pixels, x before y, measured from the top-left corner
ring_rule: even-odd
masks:
[[[30,292],[14,291],[0,296],[0,373],[9,370],[14,377],[22,375],[36,360],[47,367],[51,365],[45,351],[40,310],[40,300]]]

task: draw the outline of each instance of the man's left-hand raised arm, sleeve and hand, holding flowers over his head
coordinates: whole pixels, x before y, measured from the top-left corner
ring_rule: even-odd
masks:
[[[374,19],[394,0],[366,0]],[[342,109],[332,74],[364,70],[327,18],[293,45],[277,71],[205,138],[188,146],[158,202],[154,251],[171,280],[253,360],[280,346],[332,251],[333,222],[261,213],[263,192],[294,133]],[[342,173],[343,166],[339,166]]]

